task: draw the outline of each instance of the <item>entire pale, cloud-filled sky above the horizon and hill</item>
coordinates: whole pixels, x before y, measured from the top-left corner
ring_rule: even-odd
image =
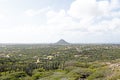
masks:
[[[120,0],[0,0],[0,43],[120,43]]]

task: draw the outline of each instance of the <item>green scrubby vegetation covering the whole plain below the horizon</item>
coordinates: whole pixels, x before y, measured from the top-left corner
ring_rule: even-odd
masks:
[[[120,45],[5,45],[0,80],[117,80]]]

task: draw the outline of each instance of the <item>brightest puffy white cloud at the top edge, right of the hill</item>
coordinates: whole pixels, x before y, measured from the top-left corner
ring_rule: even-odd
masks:
[[[71,4],[68,14],[79,19],[94,18],[108,14],[113,5],[109,0],[76,0]]]

